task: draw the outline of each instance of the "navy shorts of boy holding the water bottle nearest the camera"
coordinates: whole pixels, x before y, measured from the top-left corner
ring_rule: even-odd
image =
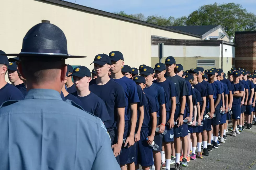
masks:
[[[141,140],[137,142],[135,165],[152,166],[154,164],[152,147],[146,138],[151,134],[151,128],[141,128]]]

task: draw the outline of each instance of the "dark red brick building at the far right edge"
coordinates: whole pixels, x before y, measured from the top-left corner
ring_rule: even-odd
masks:
[[[256,70],[256,31],[235,32],[235,67]]]

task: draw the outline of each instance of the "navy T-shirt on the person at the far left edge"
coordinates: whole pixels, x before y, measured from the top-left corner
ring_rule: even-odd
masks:
[[[21,91],[9,83],[0,89],[0,106],[8,100],[22,100],[23,98]]]

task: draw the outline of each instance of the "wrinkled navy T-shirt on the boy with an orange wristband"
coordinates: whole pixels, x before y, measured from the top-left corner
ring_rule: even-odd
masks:
[[[165,104],[167,101],[164,88],[153,83],[151,86],[146,87],[143,91],[145,94],[148,94],[148,95],[154,97],[154,99],[156,101],[156,105],[159,110],[158,112],[156,112],[156,116],[160,117],[160,113],[159,113],[161,110],[160,105]]]

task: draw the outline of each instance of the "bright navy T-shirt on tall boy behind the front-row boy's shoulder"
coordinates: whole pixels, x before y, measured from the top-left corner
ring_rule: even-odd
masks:
[[[128,103],[128,105],[125,107],[124,120],[125,121],[130,120],[131,119],[130,104],[139,102],[136,83],[132,79],[129,79],[128,77],[125,77],[125,76],[120,79],[113,79],[113,80],[124,88],[125,99],[126,99],[126,102]]]

